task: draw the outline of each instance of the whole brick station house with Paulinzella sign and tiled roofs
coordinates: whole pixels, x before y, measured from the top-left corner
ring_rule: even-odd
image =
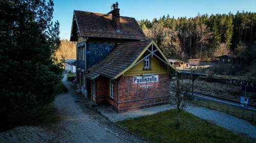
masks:
[[[119,15],[74,11],[70,41],[77,42],[77,88],[95,105],[117,112],[168,101],[168,62],[137,21]]]

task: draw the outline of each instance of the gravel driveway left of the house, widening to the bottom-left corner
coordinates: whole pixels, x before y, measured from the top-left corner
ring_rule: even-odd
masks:
[[[66,80],[65,74],[62,82],[69,92],[58,95],[53,102],[60,118],[57,123],[16,127],[0,133],[0,142],[148,142],[89,108],[90,99],[76,94],[74,83]]]

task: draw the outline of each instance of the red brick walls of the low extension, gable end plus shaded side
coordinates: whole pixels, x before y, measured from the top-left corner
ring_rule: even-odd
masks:
[[[168,74],[159,74],[158,82],[148,83],[133,83],[133,76],[116,79],[114,80],[114,99],[110,98],[109,78],[100,76],[96,82],[97,105],[109,104],[118,112],[154,106],[168,101]]]

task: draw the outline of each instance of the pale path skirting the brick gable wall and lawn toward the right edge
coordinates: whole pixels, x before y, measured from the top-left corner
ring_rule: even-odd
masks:
[[[173,108],[174,107],[170,105],[162,105],[117,114],[110,107],[101,107],[98,111],[112,122],[118,122],[127,118],[138,118],[152,115],[154,113]],[[256,138],[256,127],[245,120],[203,107],[188,107],[186,111],[199,118],[214,122],[215,124],[233,132],[247,134],[250,137]]]

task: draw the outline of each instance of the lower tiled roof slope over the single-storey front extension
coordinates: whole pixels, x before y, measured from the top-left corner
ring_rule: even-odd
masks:
[[[151,40],[129,42],[118,45],[106,58],[89,69],[86,76],[94,79],[99,75],[114,78],[128,68],[140,53],[151,43]]]

